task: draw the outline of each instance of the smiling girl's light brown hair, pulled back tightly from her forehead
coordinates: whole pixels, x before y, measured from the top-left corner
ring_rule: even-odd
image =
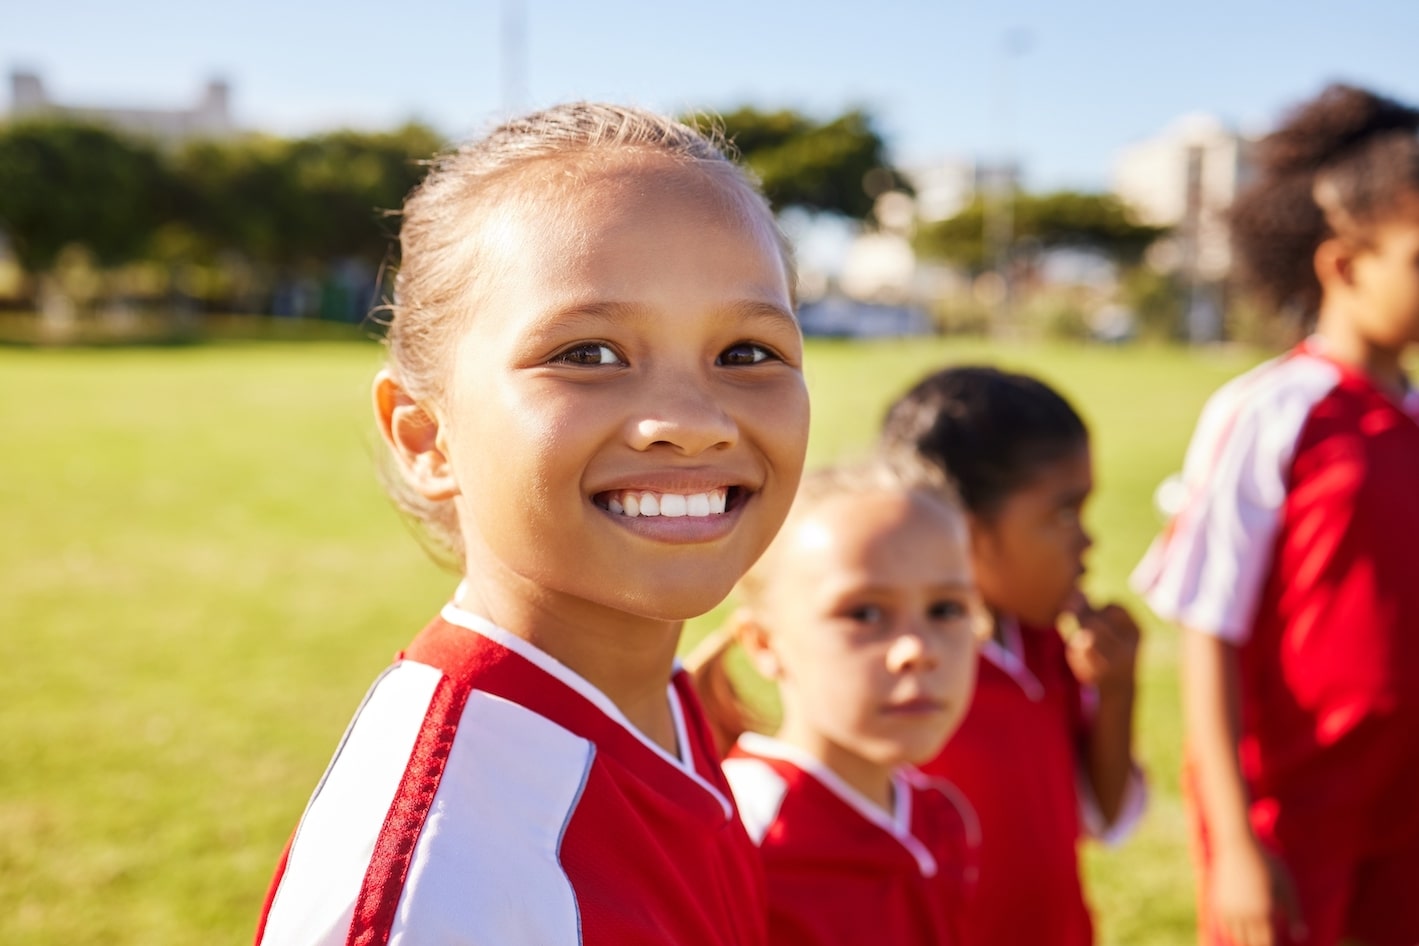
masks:
[[[399,230],[400,262],[393,302],[385,308],[389,370],[416,401],[438,401],[447,380],[447,356],[467,318],[467,299],[488,277],[474,241],[492,207],[526,200],[528,172],[562,162],[568,174],[543,176],[535,186],[558,191],[576,183],[576,172],[613,157],[643,152],[668,157],[719,179],[748,201],[752,213],[773,220],[758,183],[727,155],[717,130],[702,132],[654,112],[623,105],[575,102],[508,121],[457,150],[434,159],[429,176],[404,201]],[[788,241],[779,240],[790,298],[796,277]],[[463,538],[453,501],[430,501],[404,482],[386,455],[380,479],[394,505],[424,532],[424,545],[447,564],[463,560]]]

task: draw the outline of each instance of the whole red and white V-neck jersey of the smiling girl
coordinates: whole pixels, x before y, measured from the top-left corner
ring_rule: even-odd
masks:
[[[687,675],[680,755],[600,691],[447,607],[370,689],[257,942],[762,946],[758,852]]]

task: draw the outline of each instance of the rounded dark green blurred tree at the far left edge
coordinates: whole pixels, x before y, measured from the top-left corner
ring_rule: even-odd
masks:
[[[74,122],[0,125],[0,228],[31,272],[70,244],[105,265],[140,258],[176,200],[149,145]]]

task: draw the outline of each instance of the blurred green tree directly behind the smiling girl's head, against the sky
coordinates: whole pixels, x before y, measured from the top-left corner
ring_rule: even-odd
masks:
[[[702,116],[690,121],[710,123]],[[861,109],[815,122],[788,109],[744,106],[717,122],[763,182],[775,210],[796,206],[861,220],[871,214],[880,190],[904,186],[887,160],[887,146],[871,115]],[[873,193],[868,182],[877,182]]]

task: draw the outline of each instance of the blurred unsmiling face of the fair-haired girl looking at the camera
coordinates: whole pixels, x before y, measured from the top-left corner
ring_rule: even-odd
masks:
[[[851,781],[935,756],[975,686],[979,601],[959,513],[922,494],[829,498],[765,562],[748,647],[780,738]]]

